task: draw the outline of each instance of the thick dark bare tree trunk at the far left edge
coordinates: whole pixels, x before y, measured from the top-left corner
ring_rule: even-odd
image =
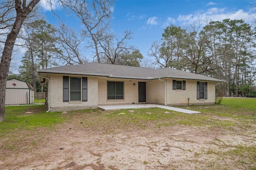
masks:
[[[12,50],[14,48],[14,43],[20,32],[24,20],[32,12],[33,8],[36,6],[36,4],[38,4],[38,2],[40,2],[40,0],[31,0],[27,4],[26,0],[15,0],[16,17],[12,25],[12,30],[10,31],[10,33],[8,33],[6,41],[4,42],[4,49],[0,63],[0,122],[3,121],[5,117],[4,104],[6,81],[10,68],[10,62],[12,59]]]

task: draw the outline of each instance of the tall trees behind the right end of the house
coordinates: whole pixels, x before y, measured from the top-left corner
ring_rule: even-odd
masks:
[[[218,96],[255,96],[255,29],[244,20],[170,25],[148,55],[160,68],[170,67],[221,80]]]

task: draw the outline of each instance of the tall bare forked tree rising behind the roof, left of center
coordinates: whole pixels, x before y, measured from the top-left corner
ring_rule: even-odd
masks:
[[[88,48],[93,48],[94,57],[100,63],[99,37],[110,28],[113,0],[60,0],[68,13],[74,13],[82,22],[82,33],[89,38]]]

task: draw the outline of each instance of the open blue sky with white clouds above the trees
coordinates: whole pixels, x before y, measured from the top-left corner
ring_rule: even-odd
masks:
[[[45,2],[46,0],[41,0]],[[198,20],[222,21],[230,18],[252,23],[255,0],[117,0],[114,3],[113,31],[122,35],[126,29],[133,32],[128,44],[135,45],[144,58],[151,43],[162,38],[164,28],[169,25],[182,26]],[[58,18],[43,3],[44,20],[58,25]],[[67,16],[58,5],[54,11],[70,27],[79,28],[80,21]],[[90,56],[90,52],[88,54]]]

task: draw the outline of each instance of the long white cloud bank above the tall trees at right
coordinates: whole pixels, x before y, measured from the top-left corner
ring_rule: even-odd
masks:
[[[255,14],[250,14],[243,10],[227,11],[226,8],[210,8],[206,12],[198,11],[195,14],[180,15],[177,20],[182,23],[192,23],[198,20],[211,19],[213,21],[222,21],[224,19],[230,20],[244,20],[249,23],[253,20],[252,16]]]

